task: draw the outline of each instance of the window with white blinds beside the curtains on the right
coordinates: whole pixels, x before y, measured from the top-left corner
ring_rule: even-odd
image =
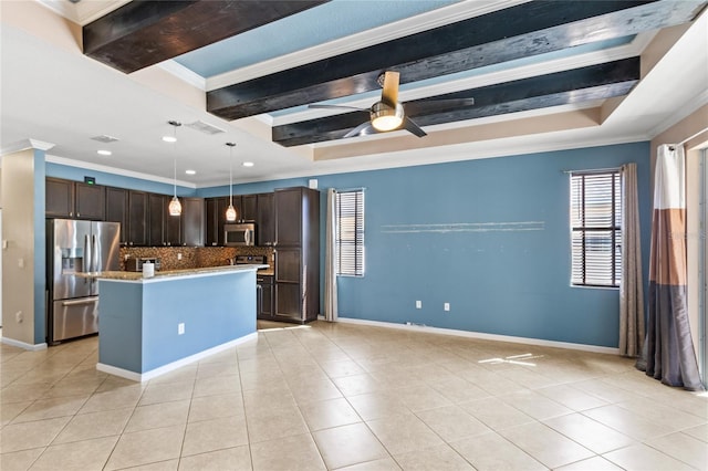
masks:
[[[571,174],[571,284],[620,286],[620,170]]]

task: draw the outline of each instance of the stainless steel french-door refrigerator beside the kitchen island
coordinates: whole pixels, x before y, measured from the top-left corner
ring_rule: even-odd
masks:
[[[46,221],[46,342],[98,332],[98,280],[77,273],[119,270],[118,222]]]

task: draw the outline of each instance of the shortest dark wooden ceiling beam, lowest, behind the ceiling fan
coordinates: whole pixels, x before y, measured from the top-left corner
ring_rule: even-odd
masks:
[[[629,93],[639,75],[639,57],[629,57],[412,101],[404,103],[404,109],[418,125],[431,126],[622,96]],[[441,102],[438,109],[435,107],[436,100],[457,98],[475,98],[475,104],[450,109]],[[285,147],[342,139],[365,121],[358,112],[309,119],[274,126],[272,138]]]

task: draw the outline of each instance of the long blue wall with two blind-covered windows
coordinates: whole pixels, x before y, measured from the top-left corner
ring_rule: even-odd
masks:
[[[616,347],[617,290],[570,285],[563,170],[637,164],[646,286],[649,155],[645,142],[238,185],[235,193],[317,178],[324,228],[326,188],[366,188],[366,275],[339,279],[341,316]],[[228,190],[204,188],[196,196]],[[417,231],[392,228],[412,224]]]

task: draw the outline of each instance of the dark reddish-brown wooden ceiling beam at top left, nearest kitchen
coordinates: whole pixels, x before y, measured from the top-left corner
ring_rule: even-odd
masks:
[[[135,72],[330,0],[133,0],[83,28],[84,54]]]

